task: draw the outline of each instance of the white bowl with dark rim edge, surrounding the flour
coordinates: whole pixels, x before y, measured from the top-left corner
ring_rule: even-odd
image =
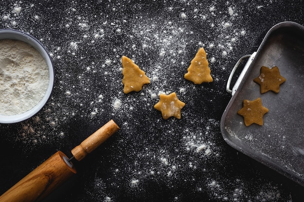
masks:
[[[43,106],[46,104],[46,102],[49,100],[51,96],[51,92],[54,85],[54,69],[53,64],[51,61],[51,57],[47,51],[47,49],[33,36],[30,34],[27,34],[23,31],[18,30],[11,30],[11,29],[0,29],[0,39],[14,39],[14,40],[20,40],[23,41],[32,47],[34,47],[42,56],[42,58],[45,60],[49,67],[49,85],[46,93],[44,94],[43,98],[40,100],[40,102],[34,106],[34,108],[21,113],[17,115],[10,115],[10,116],[3,116],[0,115],[0,124],[12,124],[24,121],[28,118],[33,117],[40,109],[43,108]]]

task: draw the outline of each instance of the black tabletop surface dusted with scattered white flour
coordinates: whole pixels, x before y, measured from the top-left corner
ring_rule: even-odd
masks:
[[[121,130],[76,162],[78,174],[47,201],[302,201],[302,186],[232,149],[220,133],[232,67],[257,50],[273,25],[304,25],[301,0],[3,0],[0,14],[0,28],[29,32],[45,45],[56,77],[39,122],[0,124],[0,193],[57,150],[70,156],[114,119]],[[208,53],[213,83],[184,79],[199,47]],[[139,93],[122,92],[122,55],[152,79]],[[163,120],[153,109],[160,91],[186,103],[181,120]],[[34,133],[23,129],[27,124]],[[210,155],[196,151],[202,144]]]

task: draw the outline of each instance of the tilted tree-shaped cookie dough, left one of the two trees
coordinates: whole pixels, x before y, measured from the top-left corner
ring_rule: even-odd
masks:
[[[126,56],[121,57],[122,63],[122,83],[123,93],[130,93],[132,91],[140,91],[142,86],[150,83],[150,79],[146,76],[131,59]]]

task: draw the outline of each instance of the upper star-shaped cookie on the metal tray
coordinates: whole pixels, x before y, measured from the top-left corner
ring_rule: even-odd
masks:
[[[279,93],[280,85],[286,81],[286,78],[280,75],[280,71],[277,66],[272,67],[271,69],[262,66],[260,76],[254,78],[253,81],[260,84],[261,93],[266,93],[268,91]]]

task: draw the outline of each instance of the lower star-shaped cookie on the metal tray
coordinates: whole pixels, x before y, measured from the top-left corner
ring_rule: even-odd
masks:
[[[244,123],[249,126],[253,123],[263,125],[263,116],[269,110],[262,106],[261,98],[253,101],[243,100],[243,108],[237,111],[237,114],[244,117]]]

